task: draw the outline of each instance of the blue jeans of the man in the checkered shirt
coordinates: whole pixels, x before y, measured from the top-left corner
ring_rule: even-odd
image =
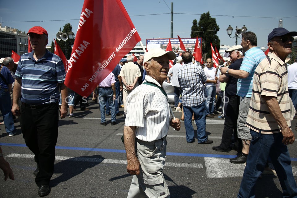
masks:
[[[187,142],[194,140],[194,128],[192,126],[192,115],[197,126],[197,139],[198,142],[205,142],[207,135],[205,133],[206,117],[205,117],[205,102],[197,106],[183,106],[183,113],[185,116],[185,128]]]

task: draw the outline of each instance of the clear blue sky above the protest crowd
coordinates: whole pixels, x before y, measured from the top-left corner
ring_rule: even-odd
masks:
[[[220,30],[217,35],[221,45],[235,45],[235,38],[227,35],[229,25],[245,25],[256,33],[258,46],[267,47],[268,34],[278,27],[282,19],[283,28],[297,31],[296,0],[122,0],[142,43],[146,39],[170,38],[171,2],[173,2],[173,37],[190,38],[193,20],[209,11],[216,19]],[[73,32],[79,23],[83,0],[0,0],[0,22],[2,26],[28,32],[33,26],[42,26],[48,31],[49,44],[56,38],[59,29],[70,23]],[[116,36],[116,32],[113,36]],[[238,44],[241,38],[238,38]]]

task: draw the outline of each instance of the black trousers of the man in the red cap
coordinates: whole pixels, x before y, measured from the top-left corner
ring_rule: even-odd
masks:
[[[58,103],[45,105],[21,105],[21,127],[26,145],[35,154],[39,173],[37,186],[49,185],[54,173],[55,146],[58,139]]]

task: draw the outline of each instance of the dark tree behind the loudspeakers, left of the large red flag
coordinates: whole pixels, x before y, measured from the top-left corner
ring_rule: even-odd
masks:
[[[69,33],[69,32],[72,32],[72,26],[70,23],[67,23],[64,25],[63,27],[63,30],[59,30],[59,32],[63,32],[63,33]],[[70,58],[70,55],[71,55],[71,51],[72,51],[72,45],[74,43],[74,39],[70,39],[68,38],[66,41],[63,41],[62,39],[60,41],[57,41],[58,45],[60,46],[62,52],[65,54],[67,60]],[[65,51],[65,48],[66,48],[66,51]],[[51,47],[50,47],[50,50],[54,49],[54,42],[51,43]]]

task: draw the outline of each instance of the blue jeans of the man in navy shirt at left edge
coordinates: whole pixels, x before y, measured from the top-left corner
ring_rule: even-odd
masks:
[[[6,132],[11,135],[15,133],[15,124],[11,113],[11,98],[9,92],[0,89],[0,111],[3,116]]]

